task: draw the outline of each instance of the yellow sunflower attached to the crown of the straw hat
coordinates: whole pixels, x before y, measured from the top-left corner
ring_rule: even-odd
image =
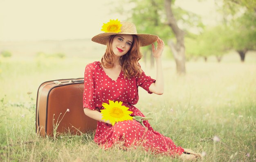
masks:
[[[105,31],[108,33],[118,33],[121,32],[121,26],[119,20],[109,20],[107,24],[103,23],[101,31]]]

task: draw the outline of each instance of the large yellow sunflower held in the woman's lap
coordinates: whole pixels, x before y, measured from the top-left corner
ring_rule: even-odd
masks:
[[[109,100],[109,105],[107,103],[102,103],[102,106],[105,108],[101,110],[103,114],[103,120],[110,120],[112,125],[115,125],[116,122],[124,120],[132,120],[131,111],[128,111],[128,107],[122,106],[123,102],[111,101]]]

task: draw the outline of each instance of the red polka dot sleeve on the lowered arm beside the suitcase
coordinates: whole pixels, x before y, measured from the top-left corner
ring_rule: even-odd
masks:
[[[94,105],[94,79],[90,66],[86,66],[84,74],[83,108],[95,110]]]

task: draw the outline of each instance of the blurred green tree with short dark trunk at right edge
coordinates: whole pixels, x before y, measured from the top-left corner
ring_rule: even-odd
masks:
[[[233,16],[229,22],[230,48],[235,49],[244,62],[247,51],[256,50],[256,1],[223,0],[223,2],[223,10],[228,10],[227,14]]]

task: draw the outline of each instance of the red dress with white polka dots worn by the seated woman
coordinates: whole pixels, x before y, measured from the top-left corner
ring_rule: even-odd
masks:
[[[116,81],[112,80],[104,72],[99,61],[89,63],[85,68],[83,107],[92,110],[104,109],[102,103],[122,101],[131,116],[144,116],[134,105],[138,102],[138,86],[144,88],[148,93],[151,83],[155,82],[142,72],[141,76],[125,79],[121,70]],[[182,154],[184,149],[176,147],[171,138],[165,137],[154,131],[147,120],[143,121],[144,128],[136,120],[128,120],[116,123],[114,126],[98,121],[94,141],[104,149],[114,144],[122,143],[124,147],[135,147],[142,145],[144,149],[154,153],[166,155]]]

